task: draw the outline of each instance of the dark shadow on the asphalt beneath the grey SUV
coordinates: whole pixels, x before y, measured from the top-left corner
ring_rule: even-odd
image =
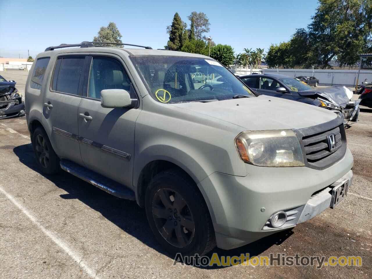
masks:
[[[100,212],[104,218],[121,228],[121,230],[137,238],[145,245],[153,248],[159,253],[167,255],[171,259],[174,259],[167,254],[167,252],[163,250],[160,244],[155,240],[148,225],[145,211],[137,205],[137,202],[116,198],[115,196],[112,196],[62,170],[59,174],[53,176],[42,174],[36,164],[31,143],[17,146],[13,148],[13,152],[17,155],[22,164],[25,164],[25,166],[38,172],[54,183],[57,187],[67,192],[67,194],[60,195],[62,199],[78,199],[90,208]],[[280,245],[291,234],[293,234],[292,231],[279,232],[246,246],[228,251],[215,248],[206,256],[211,258],[213,253],[218,253],[219,257],[240,256],[240,254],[246,253],[250,253],[251,257],[257,256],[273,245]],[[202,269],[224,268],[222,266],[196,267]]]

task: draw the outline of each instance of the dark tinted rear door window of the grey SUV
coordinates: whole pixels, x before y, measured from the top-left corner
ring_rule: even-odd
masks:
[[[83,76],[84,60],[84,57],[59,58],[54,70],[52,90],[81,95],[78,90],[80,78]]]

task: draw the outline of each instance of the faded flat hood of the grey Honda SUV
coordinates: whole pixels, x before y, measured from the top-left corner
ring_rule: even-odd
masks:
[[[245,131],[301,129],[337,117],[330,110],[282,98],[259,97],[170,104],[235,124]]]

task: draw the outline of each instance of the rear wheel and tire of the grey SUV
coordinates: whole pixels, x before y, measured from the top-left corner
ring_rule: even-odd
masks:
[[[60,159],[55,154],[48,135],[42,127],[38,127],[32,134],[32,148],[36,163],[43,174],[56,174],[60,171]]]

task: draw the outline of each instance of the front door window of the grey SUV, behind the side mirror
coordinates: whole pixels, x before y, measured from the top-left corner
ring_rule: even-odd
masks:
[[[101,99],[101,90],[104,89],[124,89],[130,92],[132,98],[136,98],[131,90],[131,81],[119,61],[112,58],[93,57],[89,74],[88,97]]]

